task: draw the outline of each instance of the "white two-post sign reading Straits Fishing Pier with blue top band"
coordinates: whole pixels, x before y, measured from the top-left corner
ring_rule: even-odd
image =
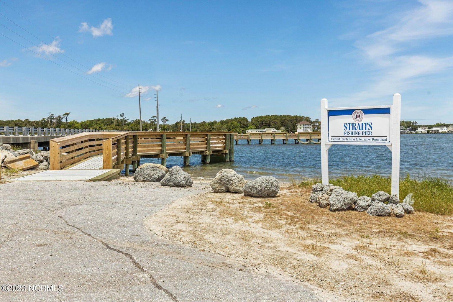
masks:
[[[391,194],[400,191],[401,95],[393,105],[328,108],[321,100],[321,173],[329,183],[328,149],[333,144],[385,145],[392,152]]]

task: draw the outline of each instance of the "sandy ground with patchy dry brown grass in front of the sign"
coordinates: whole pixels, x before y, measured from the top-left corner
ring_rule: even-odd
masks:
[[[306,189],[201,193],[145,221],[153,234],[286,276],[332,301],[453,301],[453,219],[330,212]]]

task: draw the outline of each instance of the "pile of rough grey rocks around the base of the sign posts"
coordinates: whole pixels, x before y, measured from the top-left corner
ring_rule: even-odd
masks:
[[[357,193],[344,190],[332,184],[316,183],[312,186],[309,202],[316,202],[322,208],[330,206],[330,211],[356,210],[371,216],[403,217],[414,213],[414,208],[405,202],[400,203],[396,195],[379,191],[368,196],[357,197]]]

